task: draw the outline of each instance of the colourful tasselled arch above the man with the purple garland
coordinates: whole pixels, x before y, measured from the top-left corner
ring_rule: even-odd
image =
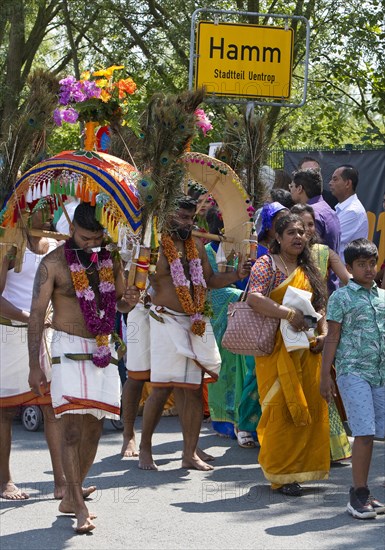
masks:
[[[0,211],[0,244],[6,245],[0,247],[1,255],[9,246],[16,246],[15,270],[20,270],[26,245],[21,236],[25,209],[51,197],[51,210],[57,210],[68,197],[76,197],[96,206],[98,221],[128,261],[141,234],[137,178],[138,173],[127,162],[93,151],[64,151],[40,162],[16,182]]]

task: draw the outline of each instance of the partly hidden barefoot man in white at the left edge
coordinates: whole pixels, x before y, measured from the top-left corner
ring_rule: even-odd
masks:
[[[30,227],[50,229],[50,209],[46,201],[31,205]],[[12,421],[21,405],[40,405],[44,415],[44,431],[51,455],[54,475],[54,496],[62,498],[65,478],[60,454],[60,431],[47,392],[37,397],[28,384],[27,331],[33,280],[39,263],[57,242],[26,233],[27,247],[20,272],[15,271],[16,249],[4,258],[0,272],[0,496],[9,500],[25,500],[29,494],[18,488],[10,473]],[[50,369],[44,346],[41,349],[42,367]],[[44,363],[44,364],[43,364]],[[92,491],[92,489],[90,489]]]

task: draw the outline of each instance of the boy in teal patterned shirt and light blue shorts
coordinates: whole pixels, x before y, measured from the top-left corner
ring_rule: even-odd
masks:
[[[373,438],[385,435],[385,290],[374,282],[378,250],[372,242],[356,239],[344,256],[353,279],[329,298],[320,391],[328,402],[335,394],[330,376],[335,362],[354,436],[347,510],[355,518],[368,519],[385,513],[385,505],[371,496],[367,486]]]

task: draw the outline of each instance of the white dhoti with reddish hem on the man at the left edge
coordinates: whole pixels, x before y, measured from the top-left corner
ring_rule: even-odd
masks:
[[[0,323],[0,407],[18,405],[49,405],[49,392],[38,397],[31,392],[28,384],[28,326],[7,321]],[[48,331],[44,332],[40,349],[40,366],[47,381],[51,380],[51,363],[48,353]]]

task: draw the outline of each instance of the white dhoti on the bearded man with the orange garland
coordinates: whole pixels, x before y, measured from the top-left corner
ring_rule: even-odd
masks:
[[[191,332],[189,315],[151,306],[151,382],[154,386],[197,389],[207,375],[218,380],[221,356],[210,320],[206,332]]]

